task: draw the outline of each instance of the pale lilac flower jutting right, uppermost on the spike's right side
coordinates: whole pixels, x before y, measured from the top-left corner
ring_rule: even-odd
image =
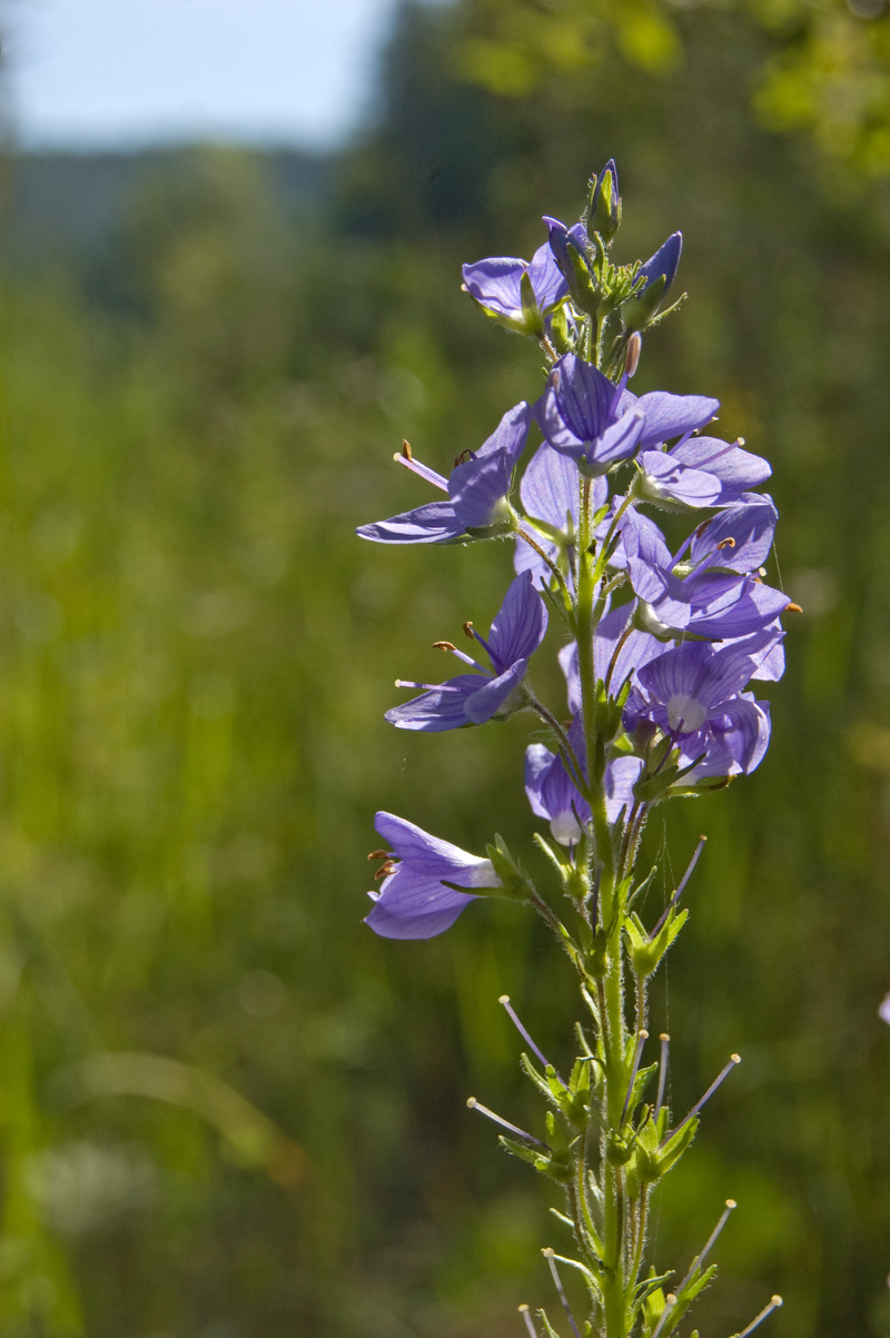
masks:
[[[664,511],[731,506],[772,474],[767,460],[713,436],[684,438],[672,451],[641,451],[634,484],[642,502]]]

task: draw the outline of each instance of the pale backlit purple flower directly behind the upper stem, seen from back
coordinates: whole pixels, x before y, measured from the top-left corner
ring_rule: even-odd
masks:
[[[592,494],[594,510],[604,506],[609,495],[606,480],[594,479]],[[577,464],[567,455],[551,451],[545,442],[531,456],[529,467],[522,475],[519,498],[531,527],[537,531],[535,542],[551,562],[558,563],[559,559],[563,559],[571,585],[581,499],[581,479]],[[547,563],[523,539],[517,541],[514,566],[517,571],[531,571],[539,585],[550,582],[551,571]]]

